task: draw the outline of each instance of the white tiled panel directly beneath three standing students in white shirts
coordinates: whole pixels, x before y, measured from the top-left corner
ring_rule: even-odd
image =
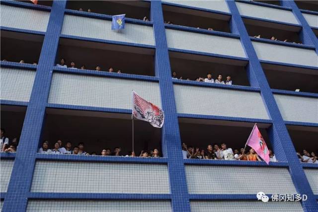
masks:
[[[173,89],[178,113],[269,119],[258,92],[177,84]]]

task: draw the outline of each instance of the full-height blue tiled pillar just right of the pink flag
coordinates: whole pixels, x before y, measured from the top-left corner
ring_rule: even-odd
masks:
[[[289,172],[297,192],[300,194],[308,195],[308,200],[302,202],[304,211],[317,212],[317,200],[315,198],[315,195],[313,194],[313,191],[311,190],[303,167],[296,155],[296,150],[294,148],[293,142],[291,141],[291,138],[288,134],[288,130],[279,112],[279,108],[276,104],[273,93],[271,92],[265,73],[262,70],[261,64],[257,58],[252,42],[247,34],[236,3],[233,0],[227,0],[227,3],[232,13],[233,22],[234,24],[236,24],[236,28],[239,30],[240,40],[245,50],[245,54],[249,59],[249,71],[256,76],[255,78],[250,78],[250,80],[256,79],[257,83],[251,82],[250,84],[259,85],[263,101],[265,103],[265,106],[267,107],[268,114],[273,121],[273,125],[269,129],[269,135],[271,139],[274,139],[274,141],[272,142],[280,143],[274,144],[274,151],[278,156],[286,155],[287,162],[289,163]],[[280,157],[278,159],[280,159]]]

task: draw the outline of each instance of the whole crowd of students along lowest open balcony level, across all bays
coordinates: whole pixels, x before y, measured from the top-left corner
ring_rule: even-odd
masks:
[[[18,147],[18,139],[14,138],[9,140],[5,137],[5,130],[1,129],[0,137],[0,151],[2,152],[16,152]],[[220,148],[221,146],[221,148]],[[76,155],[101,155],[101,156],[129,156],[136,157],[134,151],[130,151],[126,155],[121,155],[121,148],[115,147],[113,151],[110,148],[104,148],[100,153],[91,152],[88,153],[84,149],[84,143],[79,142],[77,146],[72,146],[72,142],[66,142],[65,146],[61,140],[54,143],[54,148],[49,148],[49,142],[44,141],[42,147],[39,148],[39,153],[44,154],[76,154]],[[187,146],[186,143],[182,143],[182,154],[183,158],[190,159],[219,159],[219,160],[250,160],[250,161],[262,161],[262,158],[257,155],[253,148],[249,149],[246,153],[244,148],[233,149],[228,148],[226,143],[219,144],[209,144],[206,149],[200,149],[193,146]],[[302,151],[302,154],[297,152],[298,158],[304,163],[318,163],[318,157],[315,152],[309,152],[306,149]],[[159,149],[155,148],[153,150],[142,150],[139,157],[160,157]],[[277,162],[275,154],[269,149],[270,161]]]

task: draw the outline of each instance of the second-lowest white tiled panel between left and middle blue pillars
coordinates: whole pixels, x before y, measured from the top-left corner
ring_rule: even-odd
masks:
[[[31,192],[170,193],[163,164],[37,161]]]

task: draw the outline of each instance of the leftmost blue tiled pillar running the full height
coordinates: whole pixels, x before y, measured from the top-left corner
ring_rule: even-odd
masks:
[[[36,70],[32,93],[26,110],[19,148],[14,160],[12,174],[2,208],[3,212],[24,212],[26,210],[36,152],[44,125],[45,107],[63,25],[65,6],[66,1],[55,0],[53,2],[39,65]]]

